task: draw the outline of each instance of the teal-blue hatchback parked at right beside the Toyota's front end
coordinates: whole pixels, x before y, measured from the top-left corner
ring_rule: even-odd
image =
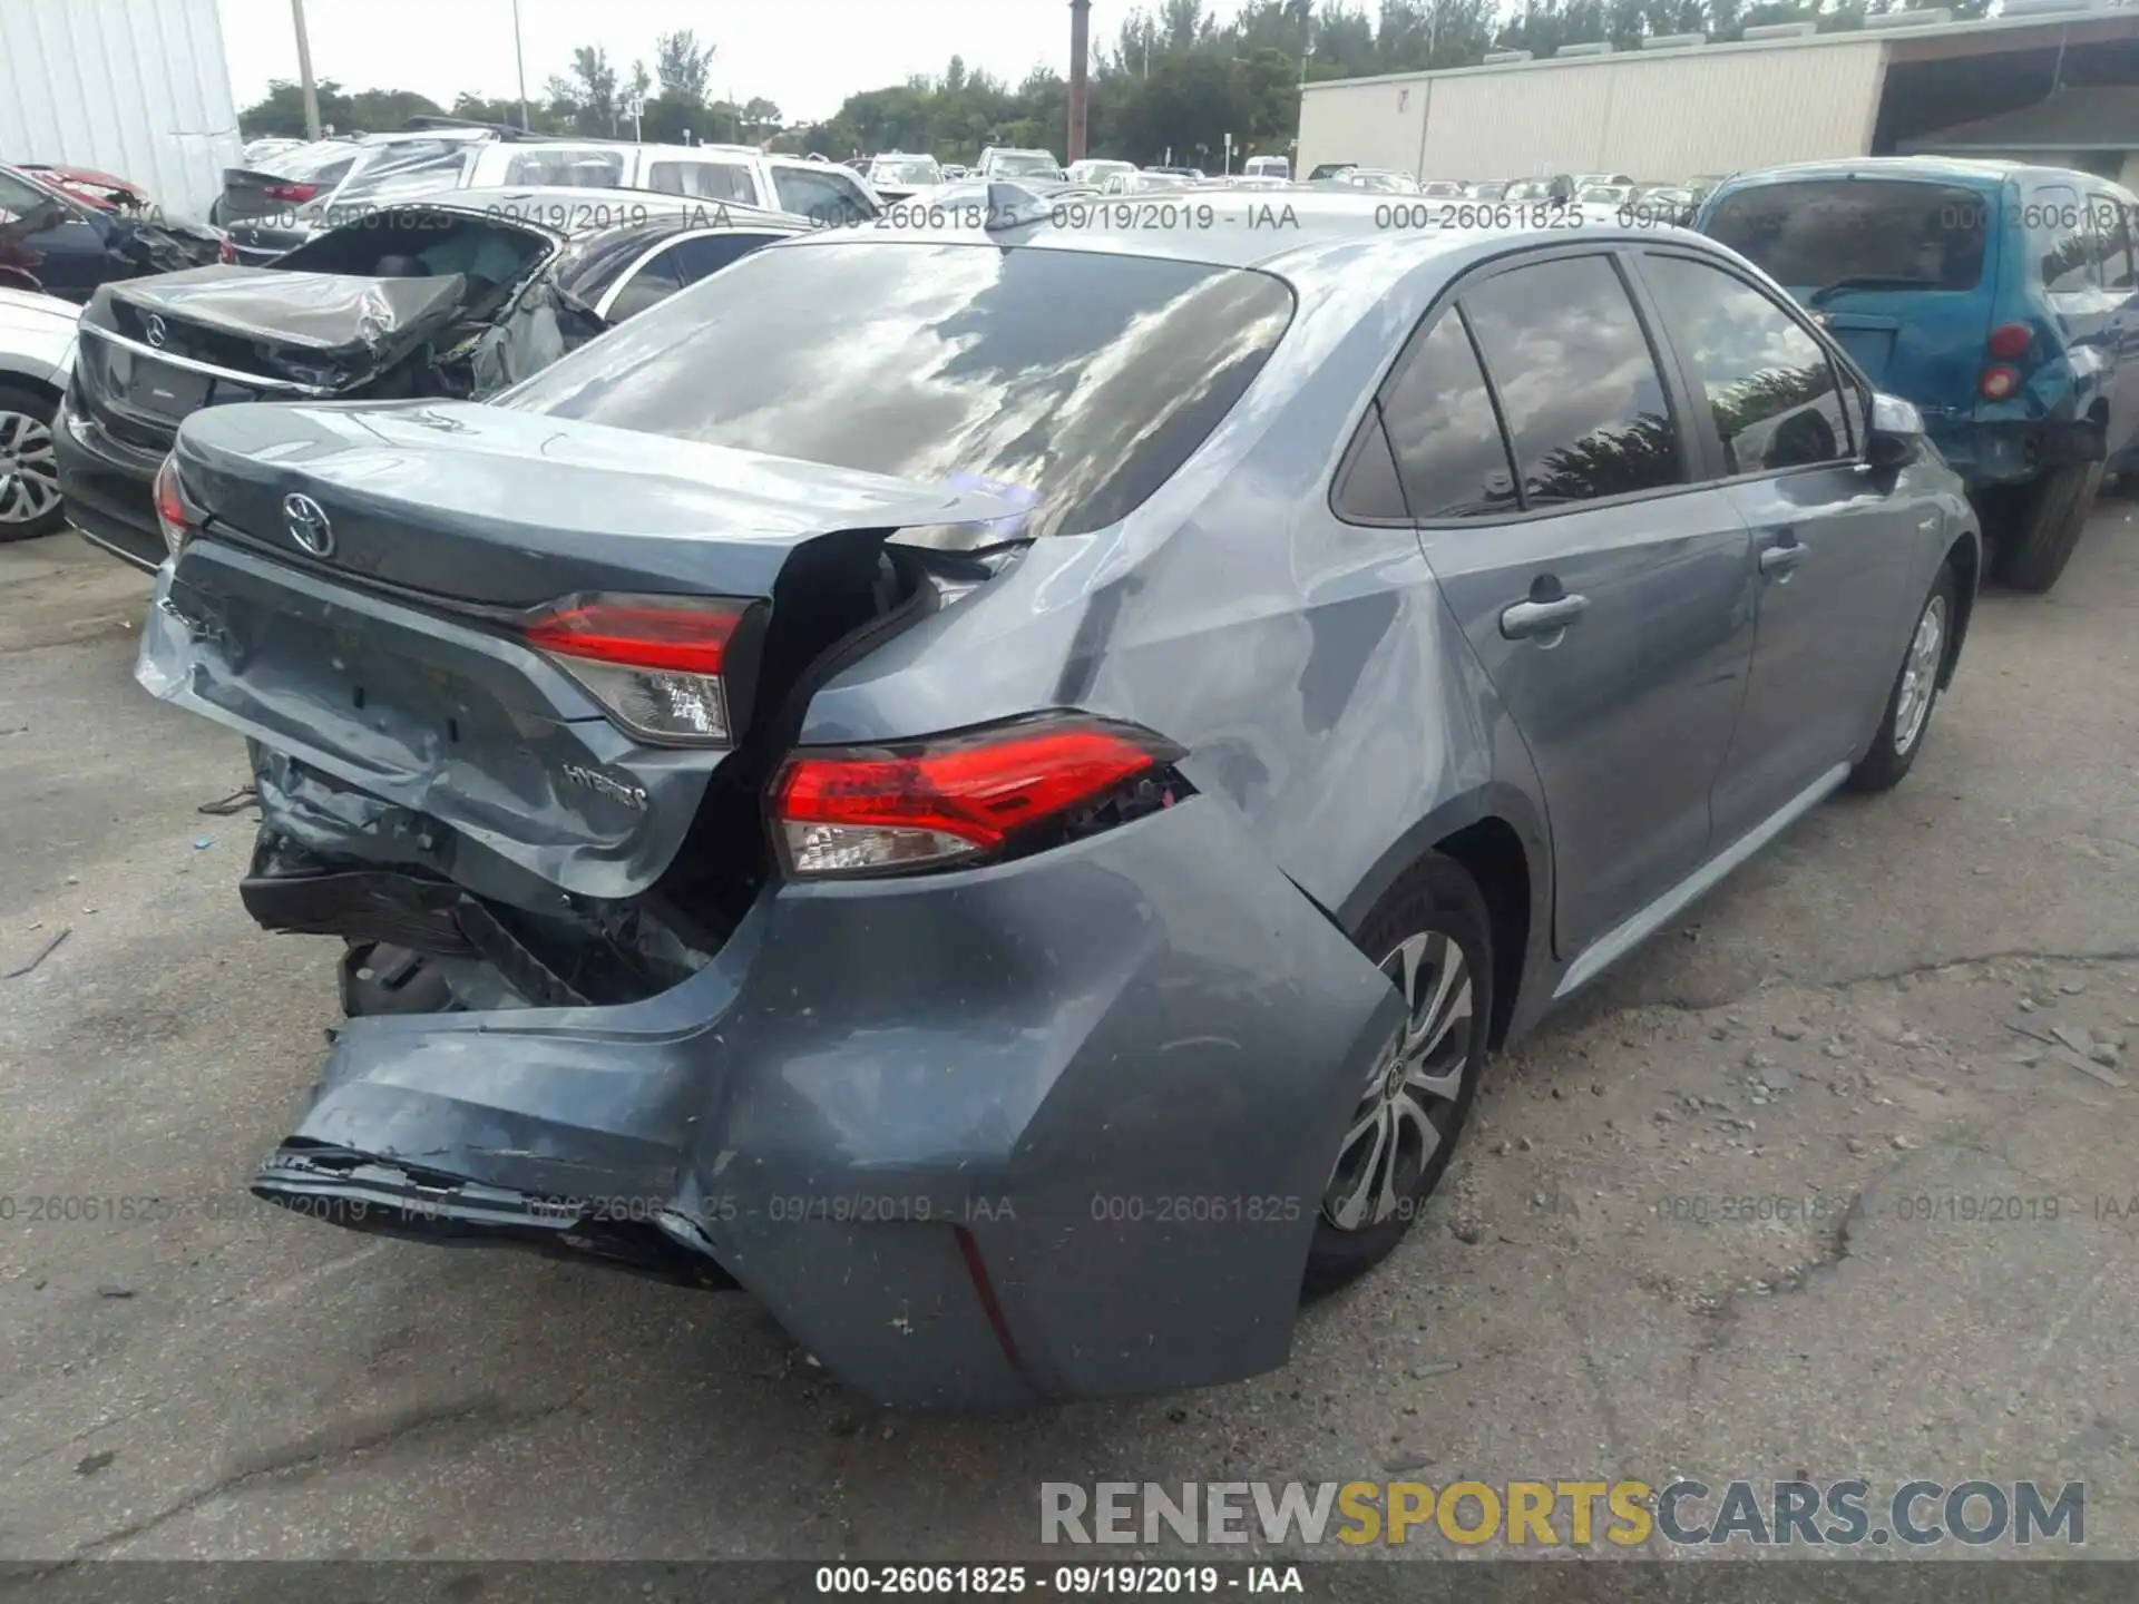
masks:
[[[1859,158],[1737,173],[1696,227],[1917,402],[1968,483],[1994,575],[2049,590],[2139,430],[2133,207],[2130,190],[2064,167]]]

